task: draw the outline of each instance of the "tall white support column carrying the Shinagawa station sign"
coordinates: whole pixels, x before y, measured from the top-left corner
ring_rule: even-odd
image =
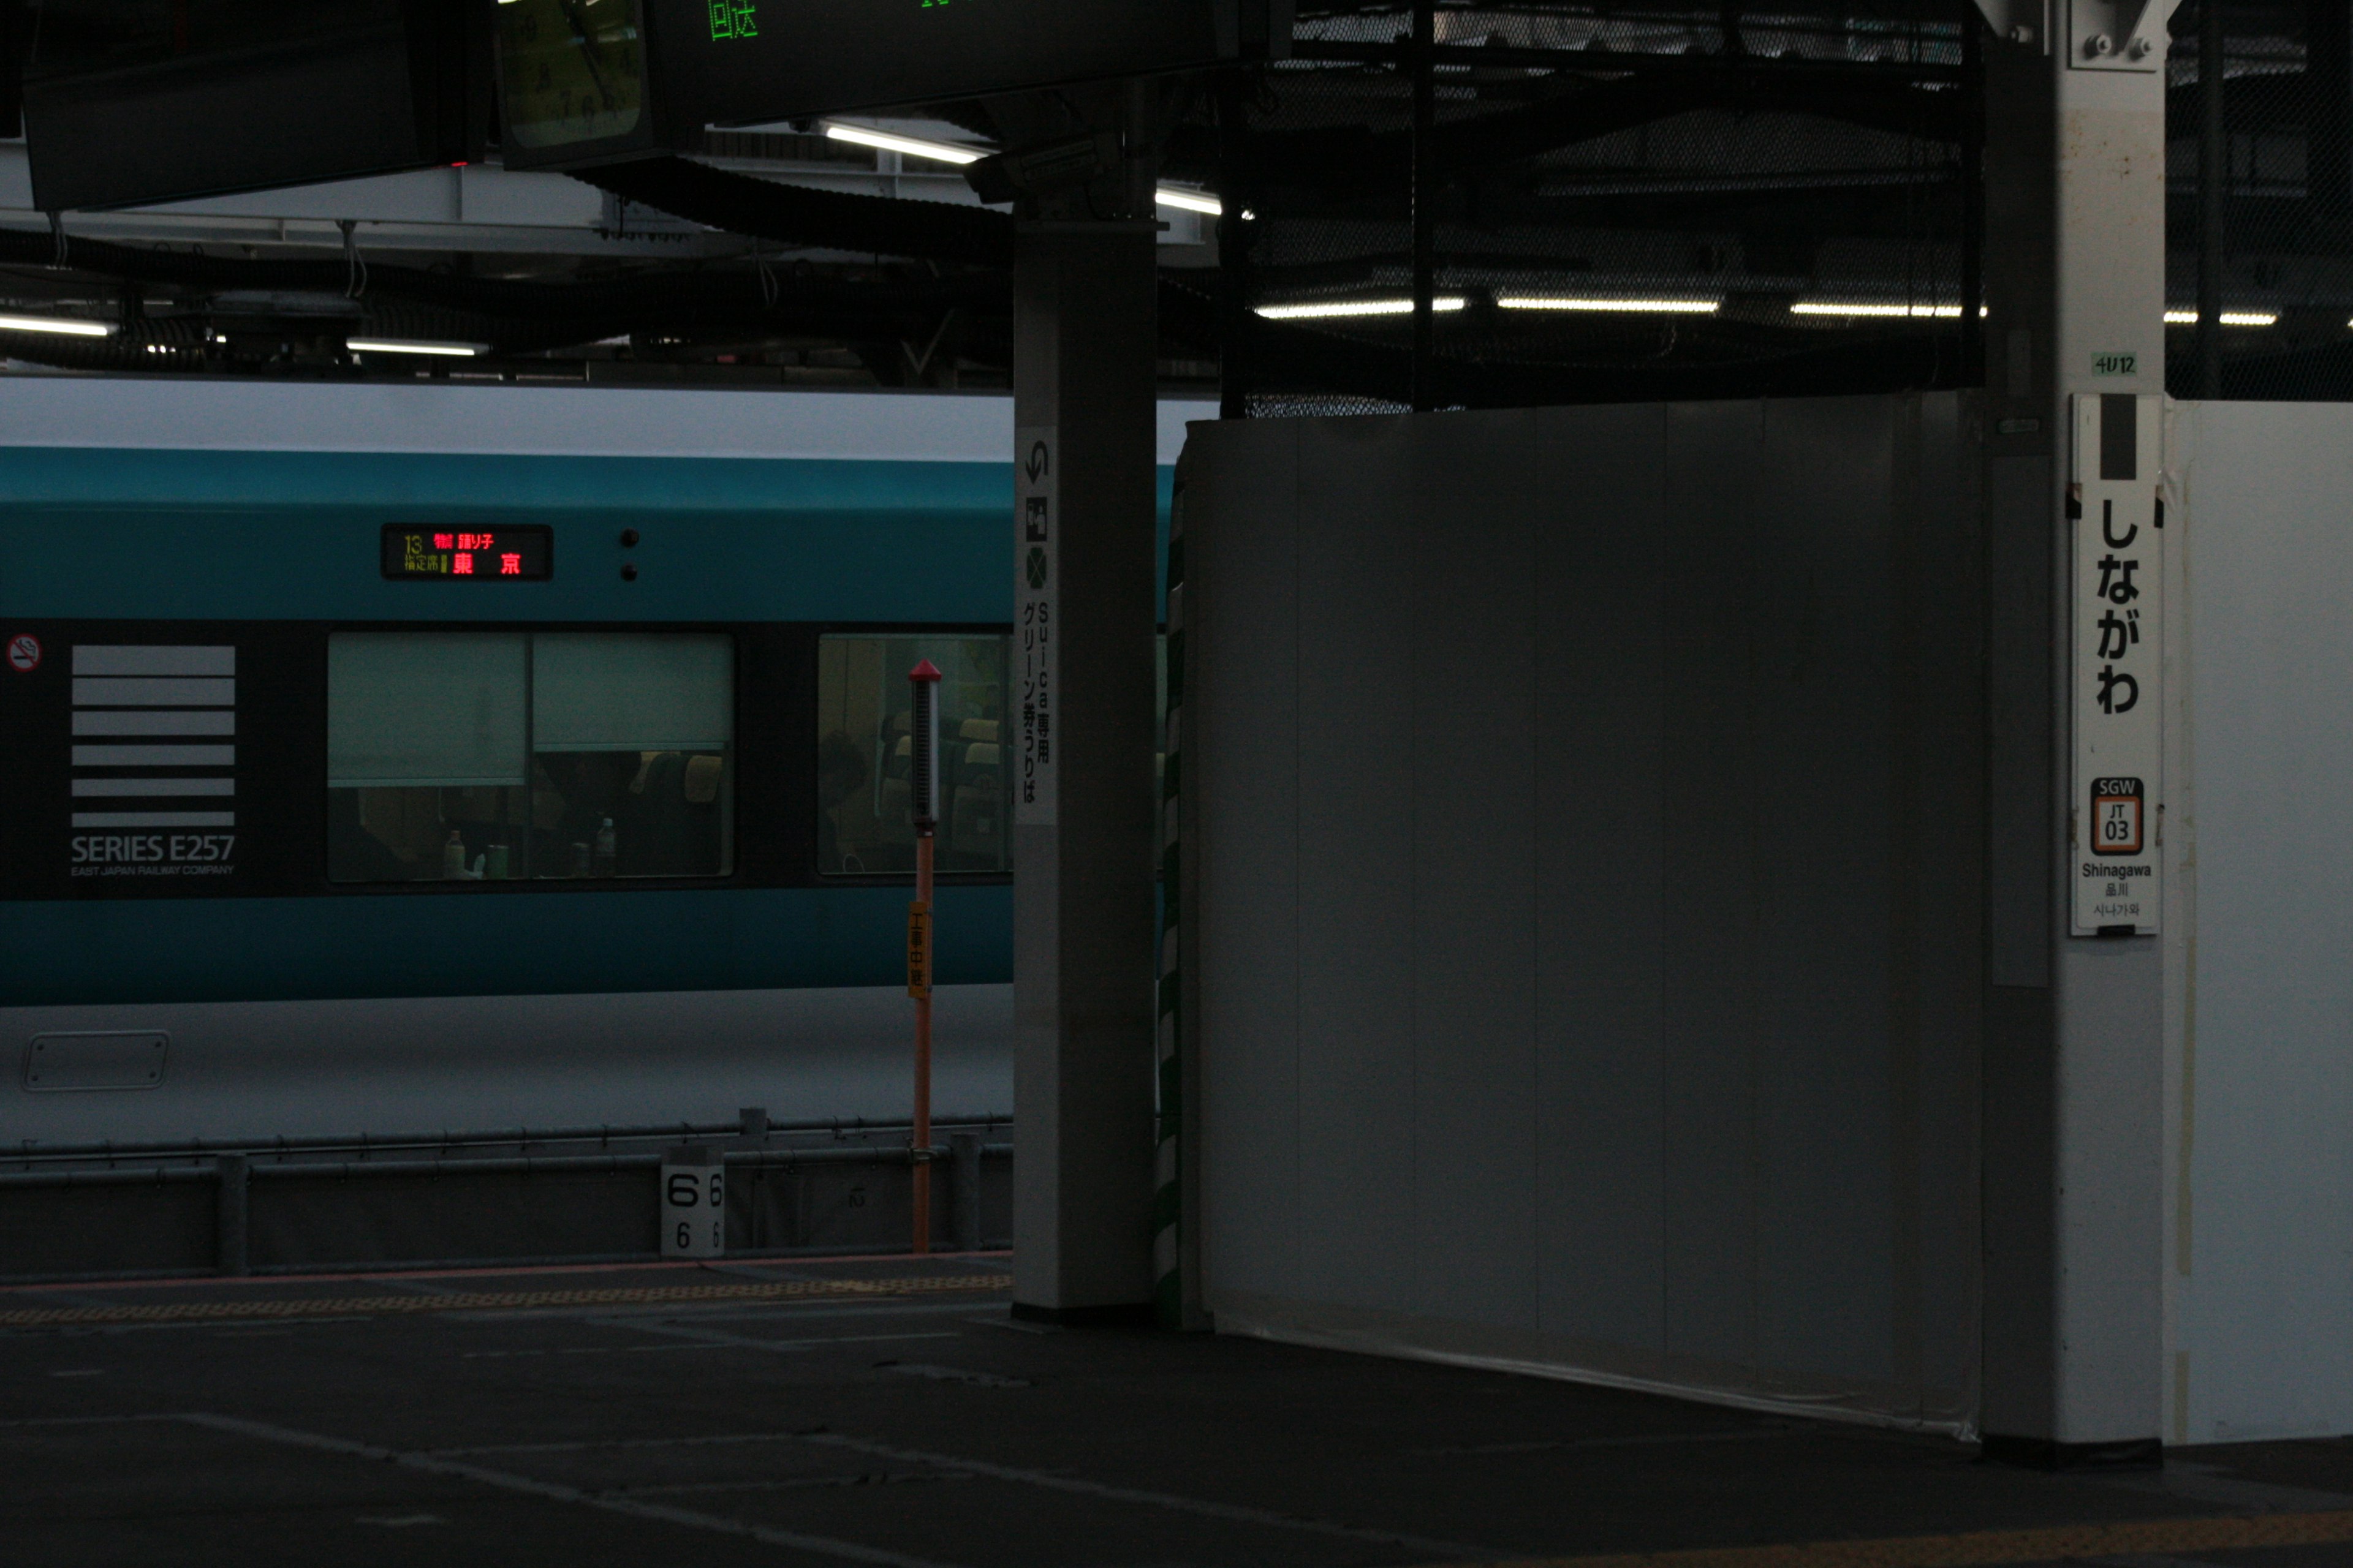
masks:
[[[2075,576],[2068,487],[2078,473],[2087,489],[2129,473],[2113,494],[2148,508],[2141,522],[2153,524],[2153,421],[2141,421],[2137,451],[2080,454],[2075,397],[2165,390],[2169,0],[1984,9],[1995,21],[1984,40],[1986,1453],[2151,1465],[2165,1349],[2160,896],[2151,879],[2146,922],[2071,933],[2087,929],[2073,893],[2092,860],[2078,842],[2092,813],[2089,797],[2078,799],[2085,665],[2073,607],[2092,585]],[[2118,397],[2092,411],[2087,428],[2101,430],[2101,411],[2125,421],[2137,404]],[[2144,564],[2146,578],[2162,576],[2160,557]],[[2141,625],[2162,635],[2160,614]],[[2144,715],[2162,712],[2155,661],[2141,679],[2137,701],[2155,703]],[[2148,769],[2144,783],[2155,835],[2165,780]]]

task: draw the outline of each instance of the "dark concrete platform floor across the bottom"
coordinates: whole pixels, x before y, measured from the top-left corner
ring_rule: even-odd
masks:
[[[0,1291],[0,1563],[2353,1566],[2353,1441],[1944,1439],[1148,1331],[1002,1258]]]

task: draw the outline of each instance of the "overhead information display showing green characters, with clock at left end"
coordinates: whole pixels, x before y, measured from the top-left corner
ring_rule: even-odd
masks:
[[[1289,0],[501,0],[506,162],[1266,56]]]

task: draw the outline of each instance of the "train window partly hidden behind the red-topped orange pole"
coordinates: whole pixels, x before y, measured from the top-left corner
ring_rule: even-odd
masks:
[[[913,698],[906,672],[939,665],[939,842],[944,872],[1012,867],[1012,726],[1002,635],[840,635],[816,644],[816,870],[915,870],[908,802]]]

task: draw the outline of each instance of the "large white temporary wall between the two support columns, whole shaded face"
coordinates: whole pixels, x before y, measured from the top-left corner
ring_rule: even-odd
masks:
[[[1195,425],[1221,1328],[1967,1420],[1958,409]]]

